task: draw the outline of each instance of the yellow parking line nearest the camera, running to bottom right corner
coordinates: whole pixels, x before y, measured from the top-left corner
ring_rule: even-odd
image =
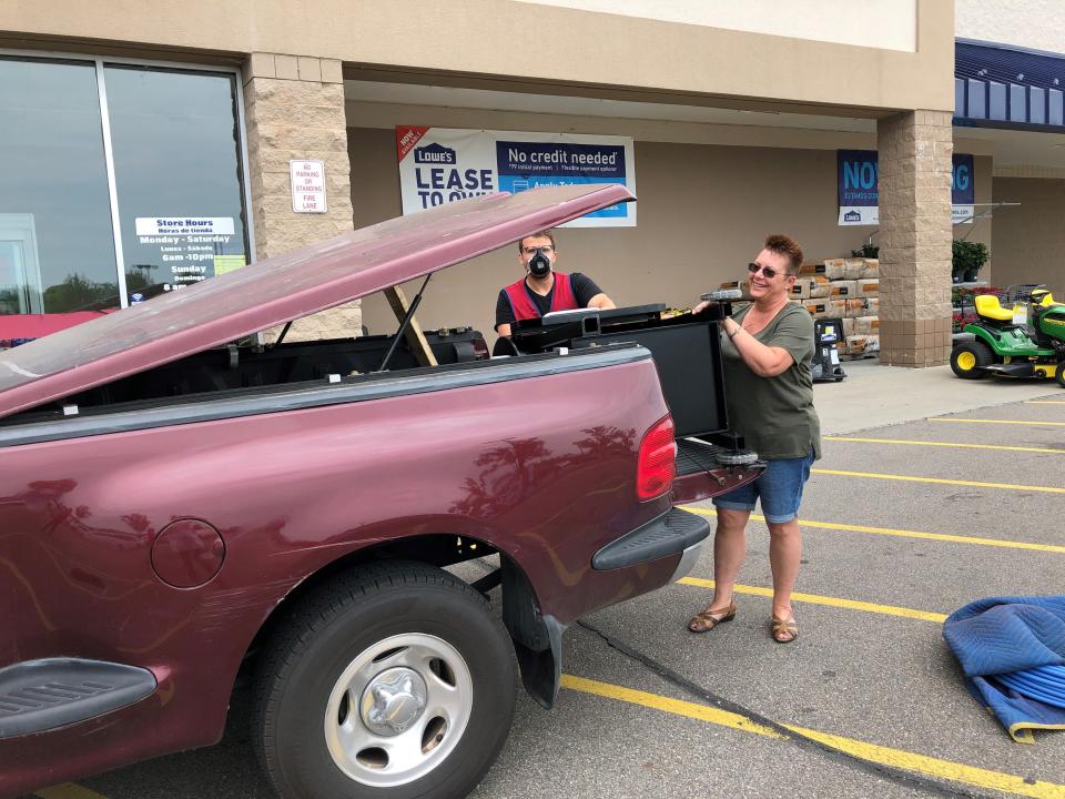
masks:
[[[661,710],[676,716],[686,716],[708,724],[731,727],[732,729],[743,730],[744,732],[752,732],[769,738],[780,738],[780,734],[775,730],[758,725],[743,716],[726,712],[697,702],[671,699],[659,696],[658,694],[633,690],[632,688],[625,688],[610,682],[600,682],[599,680],[590,680],[585,677],[575,677],[568,674],[562,675],[562,687],[606,699],[628,702],[629,705],[639,705],[641,707]],[[1003,771],[992,771],[991,769],[966,766],[965,763],[953,762],[951,760],[941,760],[940,758],[917,755],[916,752],[906,751],[905,749],[893,749],[891,747],[869,744],[829,732],[821,732],[820,730],[808,729],[805,727],[795,727],[792,725],[781,726],[799,736],[811,738],[833,749],[865,760],[866,762],[880,763],[913,773],[946,779],[953,782],[963,782],[965,785],[1014,793],[1016,796],[1036,797],[1037,799],[1065,799],[1065,785],[1038,780],[1030,782],[1024,777],[1005,773]]]

